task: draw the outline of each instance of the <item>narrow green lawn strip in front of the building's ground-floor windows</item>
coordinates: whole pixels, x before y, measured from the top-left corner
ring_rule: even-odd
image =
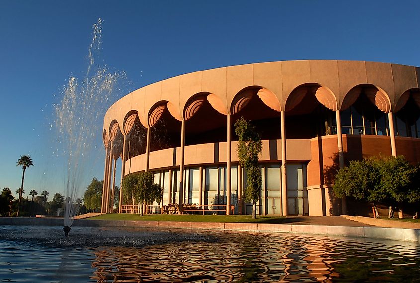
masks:
[[[283,216],[257,216],[252,219],[251,215],[144,215],[138,214],[104,214],[89,218],[92,220],[128,220],[128,221],[179,221],[179,222],[223,222],[223,223],[286,223]]]

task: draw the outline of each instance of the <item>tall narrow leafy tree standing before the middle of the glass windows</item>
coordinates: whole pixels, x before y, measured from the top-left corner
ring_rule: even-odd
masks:
[[[245,188],[245,201],[252,201],[252,219],[256,218],[256,202],[262,186],[261,169],[258,166],[259,155],[262,152],[261,137],[244,117],[235,123],[235,133],[238,135],[239,163],[247,173],[247,187]]]

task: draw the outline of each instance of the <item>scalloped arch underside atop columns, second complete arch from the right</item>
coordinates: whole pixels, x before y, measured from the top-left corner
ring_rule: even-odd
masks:
[[[306,83],[297,86],[287,97],[285,110],[290,111],[295,108],[307,94],[314,95],[319,103],[324,105],[326,108],[336,111],[338,104],[336,96],[326,86],[322,86],[318,83]]]

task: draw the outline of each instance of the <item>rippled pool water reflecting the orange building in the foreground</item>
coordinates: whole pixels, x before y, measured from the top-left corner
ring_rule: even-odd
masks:
[[[299,234],[0,226],[1,282],[420,282],[420,247]]]

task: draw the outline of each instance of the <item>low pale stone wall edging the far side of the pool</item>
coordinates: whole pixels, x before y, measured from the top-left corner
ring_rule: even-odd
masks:
[[[43,225],[63,226],[61,218],[12,218],[0,217],[0,225]],[[250,232],[302,233],[327,236],[346,236],[359,238],[387,239],[420,242],[420,229],[347,227],[327,225],[293,225],[262,223],[209,223],[209,222],[161,222],[161,221],[123,221],[123,220],[75,220],[73,226],[79,227],[149,227],[178,229],[209,229]]]

